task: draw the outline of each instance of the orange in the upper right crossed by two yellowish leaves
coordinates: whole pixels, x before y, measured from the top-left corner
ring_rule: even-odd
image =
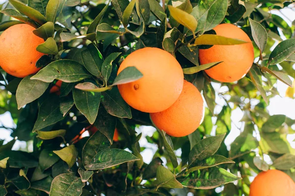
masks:
[[[223,61],[205,72],[220,82],[234,82],[250,70],[254,61],[254,48],[248,35],[232,24],[221,24],[213,28],[217,35],[240,39],[249,43],[239,45],[214,45],[209,49],[199,50],[202,65]]]

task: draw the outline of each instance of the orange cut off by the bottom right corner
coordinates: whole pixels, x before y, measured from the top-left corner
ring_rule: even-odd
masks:
[[[260,172],[250,185],[249,196],[295,196],[295,183],[279,170]]]

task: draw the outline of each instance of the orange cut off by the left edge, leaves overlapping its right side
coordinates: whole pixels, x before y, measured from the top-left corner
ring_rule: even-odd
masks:
[[[44,55],[36,50],[44,40],[27,24],[13,25],[0,35],[0,66],[11,75],[26,77],[40,70],[37,60]]]

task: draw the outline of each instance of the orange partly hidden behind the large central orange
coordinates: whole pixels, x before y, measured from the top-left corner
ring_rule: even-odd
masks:
[[[152,122],[168,135],[183,137],[194,132],[204,118],[204,100],[199,90],[184,80],[177,101],[167,110],[150,113]]]

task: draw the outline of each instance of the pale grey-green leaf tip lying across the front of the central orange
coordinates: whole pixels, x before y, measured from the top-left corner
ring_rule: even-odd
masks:
[[[144,75],[138,69],[136,69],[136,67],[127,67],[118,74],[112,86],[134,82],[143,76]]]

